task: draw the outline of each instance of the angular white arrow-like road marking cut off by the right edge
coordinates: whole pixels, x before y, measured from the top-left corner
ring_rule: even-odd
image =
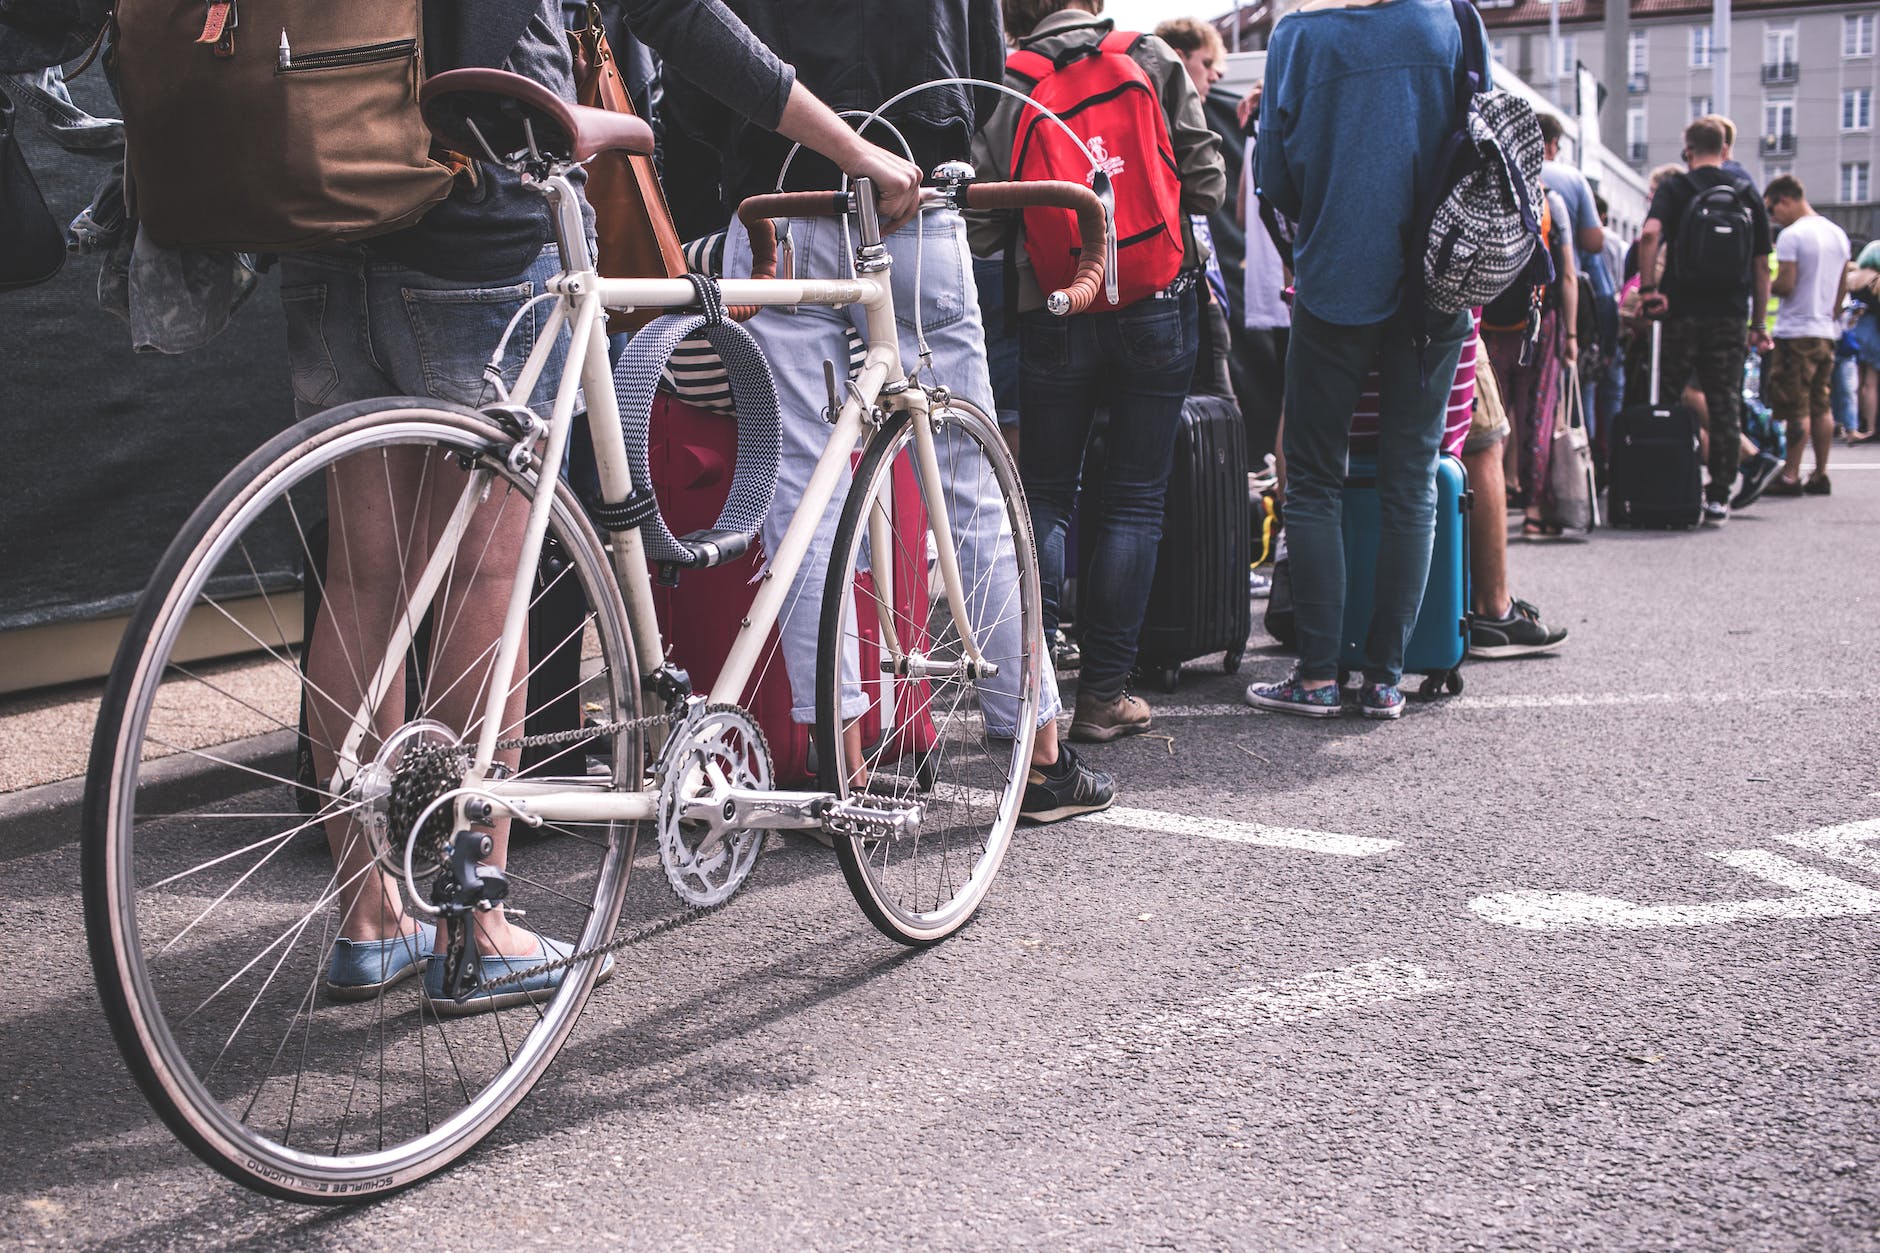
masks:
[[[1809,837],[1797,835],[1790,843],[1801,843],[1803,839]],[[1869,849],[1856,850],[1871,854]],[[1763,918],[1844,918],[1850,914],[1880,912],[1880,892],[1835,879],[1818,869],[1809,869],[1775,852],[1739,849],[1731,852],[1707,852],[1705,856],[1716,858],[1724,865],[1731,865],[1747,875],[1767,879],[1795,892],[1795,896],[1690,905],[1641,905],[1590,892],[1540,892],[1525,888],[1521,892],[1478,896],[1468,907],[1489,922],[1500,922],[1502,926],[1525,931],[1703,928]]]

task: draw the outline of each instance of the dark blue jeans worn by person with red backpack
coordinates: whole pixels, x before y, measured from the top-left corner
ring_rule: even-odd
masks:
[[[1077,610],[1077,685],[1098,700],[1122,692],[1136,668],[1136,638],[1162,542],[1162,495],[1198,346],[1194,290],[1075,318],[1019,314],[1019,461],[1032,502],[1047,636],[1058,625],[1064,531],[1077,508],[1085,444],[1098,404],[1109,408],[1102,515],[1079,523],[1079,538],[1092,553]]]

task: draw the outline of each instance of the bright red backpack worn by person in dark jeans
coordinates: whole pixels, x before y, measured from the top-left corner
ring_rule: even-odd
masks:
[[[1032,100],[1077,132],[1109,175],[1117,198],[1117,305],[1152,295],[1175,280],[1183,262],[1181,175],[1156,88],[1130,49],[1143,36],[1113,30],[1102,43],[1060,53],[1019,49],[1006,70]],[[1019,111],[1011,177],[1090,182],[1090,160],[1049,117]],[[1077,214],[1026,209],[1025,250],[1045,292],[1077,273]]]

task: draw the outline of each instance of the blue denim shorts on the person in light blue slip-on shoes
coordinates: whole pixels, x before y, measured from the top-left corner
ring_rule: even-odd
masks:
[[[494,401],[483,365],[509,316],[560,273],[545,248],[525,273],[491,286],[434,278],[397,262],[370,260],[361,248],[291,252],[280,258],[280,305],[288,314],[297,418],[348,401],[427,395],[459,404]],[[536,346],[547,305],[523,316],[502,361],[508,384]],[[566,357],[556,344],[536,388],[547,416]]]

